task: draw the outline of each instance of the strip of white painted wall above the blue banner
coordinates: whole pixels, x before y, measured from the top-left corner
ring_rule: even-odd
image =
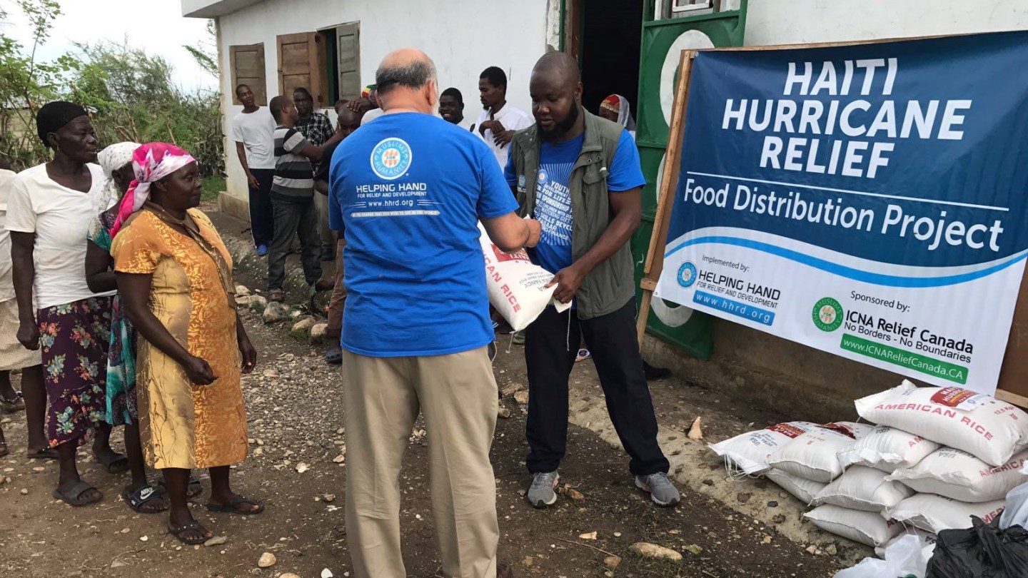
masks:
[[[749,0],[746,45],[1028,29],[1028,0]]]

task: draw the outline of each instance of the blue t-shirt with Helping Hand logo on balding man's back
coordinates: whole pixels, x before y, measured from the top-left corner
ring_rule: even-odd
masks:
[[[346,137],[329,171],[329,221],[346,230],[342,347],[406,357],[492,341],[478,219],[516,210],[489,147],[442,118],[384,114]]]

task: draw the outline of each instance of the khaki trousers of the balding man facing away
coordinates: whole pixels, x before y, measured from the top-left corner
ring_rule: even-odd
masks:
[[[486,348],[373,358],[343,350],[346,539],[357,578],[404,578],[400,467],[418,410],[429,442],[432,517],[448,578],[494,578],[497,487],[489,446],[497,383]]]

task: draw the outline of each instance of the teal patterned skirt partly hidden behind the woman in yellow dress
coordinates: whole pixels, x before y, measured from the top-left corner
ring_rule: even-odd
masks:
[[[136,405],[136,328],[128,322],[121,297],[111,301],[111,341],[107,355],[107,423],[139,422]]]

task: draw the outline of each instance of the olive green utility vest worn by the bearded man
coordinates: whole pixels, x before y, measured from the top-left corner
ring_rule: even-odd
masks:
[[[624,127],[583,110],[585,142],[567,182],[572,196],[572,259],[579,260],[607,230],[613,215],[607,190],[608,167]],[[531,125],[518,131],[511,141],[510,156],[517,175],[519,214],[530,216],[536,210],[541,142],[538,129]],[[635,294],[631,249],[625,243],[609,259],[585,278],[579,288],[579,319],[592,319],[623,308]]]

